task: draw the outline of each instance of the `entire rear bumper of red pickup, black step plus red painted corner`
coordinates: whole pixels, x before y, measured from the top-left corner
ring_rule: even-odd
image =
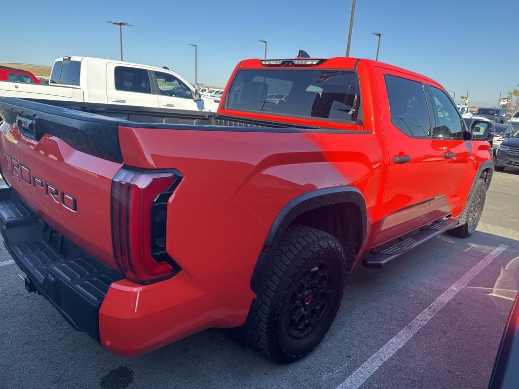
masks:
[[[10,189],[0,190],[0,232],[20,269],[75,329],[112,354],[135,357],[211,327],[241,326],[255,297],[253,266],[136,284],[39,219]]]

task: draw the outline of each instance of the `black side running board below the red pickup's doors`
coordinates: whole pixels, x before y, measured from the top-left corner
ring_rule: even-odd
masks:
[[[416,246],[431,240],[441,233],[456,227],[459,224],[458,219],[449,217],[434,221],[432,224],[421,228],[419,232],[412,237],[402,237],[397,243],[386,247],[379,252],[373,252],[371,257],[364,258],[362,265],[366,268],[379,269],[391,262],[393,259],[411,251]],[[375,249],[376,250],[376,249]]]

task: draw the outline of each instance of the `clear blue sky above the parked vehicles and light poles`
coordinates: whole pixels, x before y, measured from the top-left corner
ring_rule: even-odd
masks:
[[[3,4],[0,62],[48,64],[63,55],[167,65],[194,82],[225,86],[236,63],[263,56],[345,55],[351,0],[51,1]],[[475,105],[495,105],[519,84],[519,1],[358,0],[352,57],[379,59],[425,74]]]

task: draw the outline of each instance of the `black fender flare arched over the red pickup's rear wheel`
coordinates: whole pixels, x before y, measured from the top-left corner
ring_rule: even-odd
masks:
[[[326,205],[353,203],[359,207],[362,221],[362,243],[367,234],[366,202],[359,189],[352,186],[318,189],[304,193],[287,203],[279,212],[267,233],[262,252],[252,272],[250,286],[256,295],[262,289],[272,262],[270,247],[275,246],[292,221],[299,215]]]

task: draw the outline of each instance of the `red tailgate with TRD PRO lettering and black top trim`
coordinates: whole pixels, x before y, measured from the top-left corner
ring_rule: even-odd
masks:
[[[36,215],[87,253],[117,269],[111,185],[122,165],[117,120],[0,98],[6,182]]]

